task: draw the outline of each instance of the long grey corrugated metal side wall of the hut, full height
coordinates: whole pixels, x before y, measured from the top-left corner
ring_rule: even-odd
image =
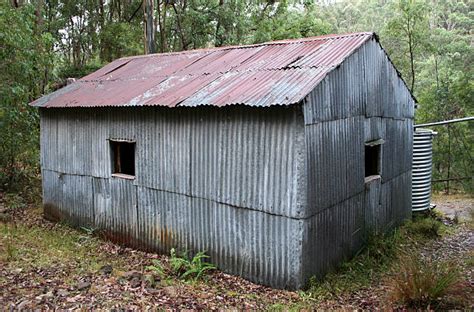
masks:
[[[205,250],[221,269],[301,286],[301,106],[42,109],[45,213],[149,250]],[[136,140],[136,179],[108,139]]]

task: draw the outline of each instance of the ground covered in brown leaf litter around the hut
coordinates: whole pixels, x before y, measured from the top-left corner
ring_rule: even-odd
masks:
[[[2,194],[0,194],[1,196]],[[453,204],[454,202],[454,204]],[[472,199],[437,198],[467,215]],[[276,290],[213,271],[200,281],[160,277],[146,269],[167,256],[133,250],[42,218],[40,209],[9,209],[0,197],[0,302],[4,308],[144,309],[387,309],[386,277],[369,285],[318,298],[310,292]],[[423,256],[467,259],[462,270],[472,296],[474,235],[469,223],[418,246]],[[471,259],[471,260],[469,260]],[[388,274],[388,273],[387,273]],[[472,298],[472,297],[471,297]]]

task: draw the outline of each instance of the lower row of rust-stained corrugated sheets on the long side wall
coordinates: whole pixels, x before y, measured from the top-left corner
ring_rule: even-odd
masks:
[[[82,183],[86,180],[89,185]],[[84,189],[69,190],[81,185]],[[45,218],[50,220],[88,227],[105,239],[149,252],[169,254],[176,248],[192,256],[205,251],[220,270],[271,287],[304,286],[304,220],[150,189],[129,180],[48,170],[43,171],[43,188]]]

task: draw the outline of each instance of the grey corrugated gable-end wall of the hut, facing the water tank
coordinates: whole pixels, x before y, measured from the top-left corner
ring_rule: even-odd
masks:
[[[304,279],[322,276],[410,215],[414,101],[375,40],[304,104],[308,209]],[[365,182],[365,143],[383,139],[381,178]]]

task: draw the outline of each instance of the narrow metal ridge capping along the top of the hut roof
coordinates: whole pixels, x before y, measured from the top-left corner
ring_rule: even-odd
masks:
[[[255,47],[261,47],[261,46],[268,46],[268,45],[293,44],[293,43],[300,43],[300,42],[332,40],[332,39],[340,39],[340,38],[345,38],[345,37],[358,37],[358,36],[367,36],[368,38],[374,37],[378,41],[378,36],[375,32],[354,32],[354,33],[344,33],[344,34],[328,34],[328,35],[295,38],[295,39],[282,39],[282,40],[266,41],[266,42],[253,43],[253,44],[228,45],[228,46],[223,46],[223,47],[201,48],[201,49],[176,51],[176,52],[161,52],[161,53],[124,56],[116,60],[132,60],[132,59],[139,59],[139,58],[156,57],[156,56],[161,56],[161,55],[180,55],[180,54],[214,52],[214,51],[232,50],[232,49],[247,49],[247,48],[255,48]]]

